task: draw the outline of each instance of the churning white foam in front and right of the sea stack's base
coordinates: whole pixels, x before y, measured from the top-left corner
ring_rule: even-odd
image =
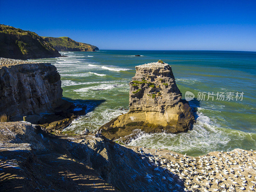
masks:
[[[243,140],[245,135],[248,134],[241,131],[222,128],[201,112],[198,113],[196,121],[193,129],[186,133],[143,134],[139,138],[132,140],[129,145],[150,146],[150,148],[167,148],[175,152],[196,151],[199,154],[205,154],[210,151],[219,150],[220,148],[224,149],[227,146],[230,146],[228,143],[231,140],[232,142],[235,140]],[[225,150],[231,149],[232,147]]]

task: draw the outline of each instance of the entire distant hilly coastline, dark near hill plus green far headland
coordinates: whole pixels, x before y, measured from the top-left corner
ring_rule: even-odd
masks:
[[[39,59],[61,57],[58,51],[95,51],[98,47],[76,42],[69,37],[41,37],[0,24],[0,57],[10,59]]]

